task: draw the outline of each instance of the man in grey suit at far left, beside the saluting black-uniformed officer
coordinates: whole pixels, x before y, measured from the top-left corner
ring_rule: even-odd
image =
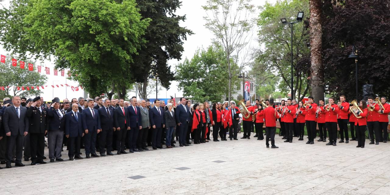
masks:
[[[16,147],[15,166],[23,167],[21,162],[23,151],[23,137],[28,134],[27,109],[20,106],[20,97],[12,97],[13,106],[5,108],[3,114],[4,131],[8,139],[8,148],[5,154],[6,167],[11,168],[14,147]]]

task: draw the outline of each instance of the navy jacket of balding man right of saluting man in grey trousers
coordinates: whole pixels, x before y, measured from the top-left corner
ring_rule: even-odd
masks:
[[[65,117],[65,135],[69,137],[78,137],[83,135],[83,120],[80,112],[77,113],[77,119],[74,116],[73,112],[66,113]]]

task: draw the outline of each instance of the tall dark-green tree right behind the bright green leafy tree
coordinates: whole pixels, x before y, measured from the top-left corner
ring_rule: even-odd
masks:
[[[178,16],[176,10],[181,6],[179,0],[156,1],[137,0],[142,18],[151,18],[149,27],[143,38],[147,41],[137,54],[133,54],[134,61],[131,69],[135,81],[143,83],[142,98],[147,98],[149,75],[157,74],[162,87],[169,89],[170,81],[174,80],[170,59],[181,60],[183,40],[193,34],[191,30],[181,27],[179,23],[186,20],[186,16]]]

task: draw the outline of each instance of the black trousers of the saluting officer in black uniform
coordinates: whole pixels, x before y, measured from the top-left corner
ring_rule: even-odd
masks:
[[[45,150],[45,134],[44,133],[29,133],[30,134],[30,150],[31,161],[43,160]]]

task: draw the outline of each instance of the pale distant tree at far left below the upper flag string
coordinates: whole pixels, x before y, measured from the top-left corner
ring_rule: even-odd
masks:
[[[37,71],[29,71],[28,69],[21,69],[18,66],[11,66],[10,59],[11,58],[7,58],[5,64],[0,63],[0,75],[2,75],[0,76],[0,86],[5,86],[4,91],[0,90],[1,99],[12,96],[39,96],[42,91],[35,89],[35,87],[44,85],[47,81],[47,77],[43,74],[39,74]],[[24,62],[25,64],[34,64],[30,59],[24,60]],[[34,89],[18,90],[17,87],[34,87]]]

